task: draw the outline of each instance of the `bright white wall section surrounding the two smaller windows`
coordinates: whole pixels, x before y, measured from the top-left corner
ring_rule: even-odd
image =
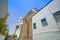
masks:
[[[46,18],[47,22],[48,22],[48,26],[43,27],[42,23],[41,23],[41,19]],[[33,29],[34,33],[40,33],[41,32],[49,32],[49,31],[53,31],[53,30],[57,30],[57,25],[56,25],[56,21],[53,17],[53,15],[51,14],[51,12],[48,10],[47,6],[41,10],[40,12],[38,12],[35,16],[32,17],[32,23],[36,23],[37,28]]]

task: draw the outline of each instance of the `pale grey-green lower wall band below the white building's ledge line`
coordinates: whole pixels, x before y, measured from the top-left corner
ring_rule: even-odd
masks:
[[[35,34],[33,40],[60,40],[60,32],[45,32]]]

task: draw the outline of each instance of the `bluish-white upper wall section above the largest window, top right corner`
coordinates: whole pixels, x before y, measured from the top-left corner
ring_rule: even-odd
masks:
[[[52,13],[60,10],[60,0],[53,0],[51,3],[47,5]]]

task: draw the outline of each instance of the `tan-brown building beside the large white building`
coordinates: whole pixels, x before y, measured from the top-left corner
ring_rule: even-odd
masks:
[[[32,15],[37,11],[31,10],[23,18],[23,25],[20,32],[20,40],[32,40]]]

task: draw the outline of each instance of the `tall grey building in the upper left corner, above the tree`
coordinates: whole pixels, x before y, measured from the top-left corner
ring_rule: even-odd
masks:
[[[4,18],[8,11],[8,0],[0,0],[0,17]]]

